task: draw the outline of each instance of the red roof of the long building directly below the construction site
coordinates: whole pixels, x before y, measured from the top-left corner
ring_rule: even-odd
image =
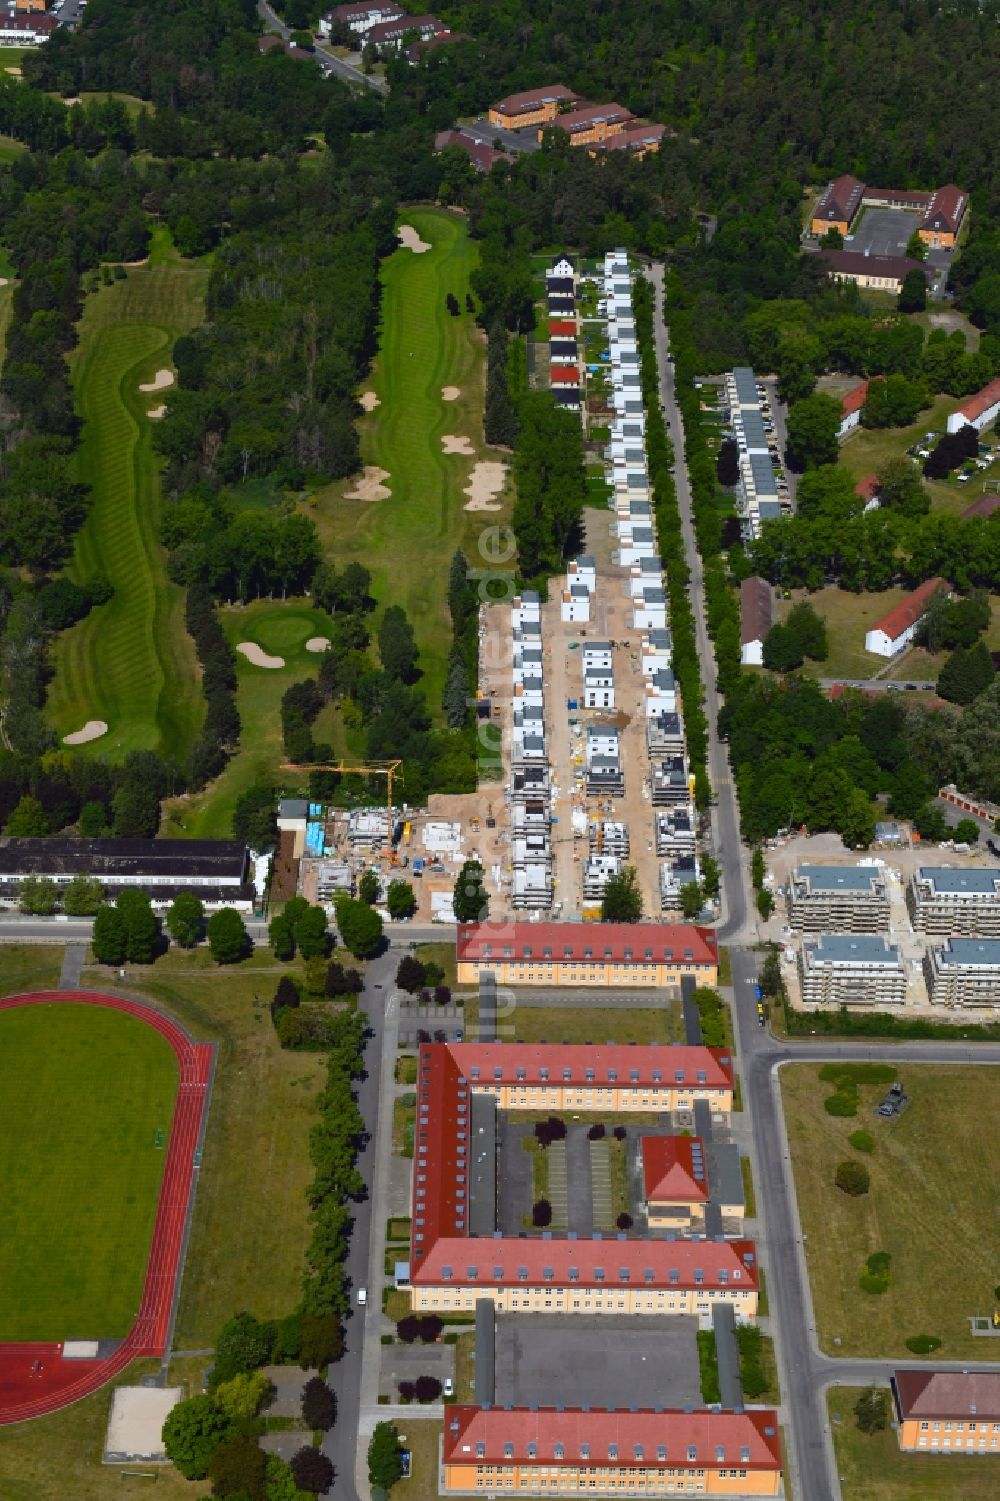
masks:
[[[482,959],[556,959],[599,962],[625,959],[718,964],[713,928],[694,923],[464,923],[458,928],[458,962]]]

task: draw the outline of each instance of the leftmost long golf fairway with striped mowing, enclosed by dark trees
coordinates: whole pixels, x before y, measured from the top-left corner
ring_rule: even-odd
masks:
[[[149,264],[87,297],[72,356],[84,419],[78,473],[92,507],[71,573],[83,582],[107,575],[114,597],[60,633],[48,716],[60,735],[105,720],[99,750],[111,760],[135,749],[183,758],[204,708],[183,591],[167,578],[158,539],[159,459],[147,411],[164,396],[138,387],[170,366],[174,339],[201,320],[207,276],[158,231]]]

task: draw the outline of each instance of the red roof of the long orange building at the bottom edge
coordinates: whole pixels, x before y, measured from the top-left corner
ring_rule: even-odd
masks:
[[[512,1454],[506,1445],[514,1445]],[[559,1453],[556,1445],[560,1445]],[[444,1415],[446,1465],[538,1462],[604,1468],[617,1462],[631,1468],[638,1459],[637,1447],[643,1466],[652,1469],[715,1469],[724,1465],[781,1469],[778,1414],[770,1408],[749,1412],[656,1412],[650,1408],[602,1412],[595,1408],[450,1406]]]

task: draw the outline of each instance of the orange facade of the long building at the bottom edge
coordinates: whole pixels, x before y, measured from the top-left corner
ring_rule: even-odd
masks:
[[[527,1495],[778,1496],[779,1469],[685,1469],[575,1465],[443,1465],[444,1493],[514,1490]]]

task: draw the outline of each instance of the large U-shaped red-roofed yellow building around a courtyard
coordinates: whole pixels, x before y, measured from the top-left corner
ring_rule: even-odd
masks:
[[[497,1111],[665,1112],[733,1106],[719,1048],[425,1043],[417,1061],[410,1294],[420,1310],[757,1312],[751,1240],[502,1235]],[[694,1159],[692,1159],[694,1168]]]

